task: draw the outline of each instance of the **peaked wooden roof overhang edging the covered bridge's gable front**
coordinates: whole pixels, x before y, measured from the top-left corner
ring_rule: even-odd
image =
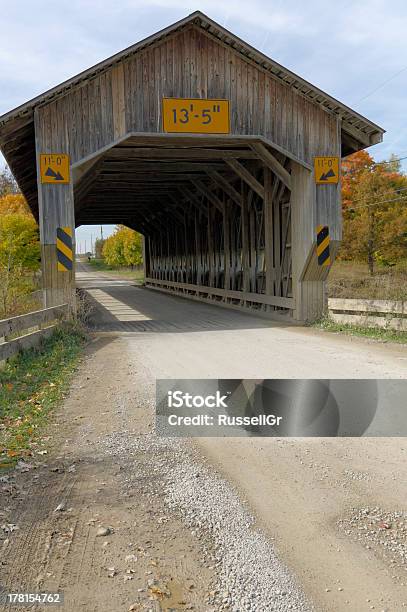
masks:
[[[312,100],[314,104],[322,107],[328,113],[340,116],[344,154],[381,142],[384,133],[381,127],[268,58],[200,11],[196,11],[0,117],[0,147],[36,216],[38,216],[38,203],[34,109],[65,95],[82,82],[92,79],[142,49],[191,25],[209,32],[220,43],[229,45],[237,53],[270,73],[277,81],[283,82],[300,95]]]

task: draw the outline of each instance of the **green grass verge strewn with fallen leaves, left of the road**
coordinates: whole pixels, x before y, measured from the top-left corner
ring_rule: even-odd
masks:
[[[38,452],[42,428],[65,396],[85,340],[78,328],[61,326],[40,348],[0,370],[0,467]]]

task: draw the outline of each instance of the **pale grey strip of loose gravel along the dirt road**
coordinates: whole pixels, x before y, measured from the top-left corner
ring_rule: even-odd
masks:
[[[308,612],[313,610],[269,539],[255,527],[238,494],[185,440],[132,437],[118,432],[106,441],[107,452],[137,458],[147,453],[153,496],[164,495],[201,544],[202,563],[214,570],[203,610],[233,612]],[[136,464],[136,461],[135,461]],[[140,475],[130,470],[127,486]],[[147,474],[144,474],[148,477]]]

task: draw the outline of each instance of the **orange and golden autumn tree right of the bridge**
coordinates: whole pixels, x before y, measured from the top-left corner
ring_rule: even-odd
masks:
[[[339,258],[393,265],[407,257],[407,177],[399,162],[366,151],[342,163],[343,242]]]

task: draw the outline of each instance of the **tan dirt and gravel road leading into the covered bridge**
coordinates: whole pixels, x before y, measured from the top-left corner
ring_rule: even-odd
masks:
[[[46,465],[0,484],[2,524],[18,526],[0,582],[61,589],[69,611],[402,610],[403,438],[192,444],[152,423],[156,377],[402,378],[405,349],[82,282],[101,333]]]

